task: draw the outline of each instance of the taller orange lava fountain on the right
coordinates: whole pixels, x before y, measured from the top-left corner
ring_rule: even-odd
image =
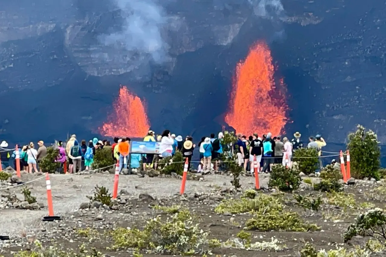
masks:
[[[247,136],[284,133],[288,106],[281,91],[281,88],[285,90],[283,79],[278,81],[278,86],[274,80],[271,51],[265,42],[257,42],[245,61],[237,64],[225,122],[237,133]]]

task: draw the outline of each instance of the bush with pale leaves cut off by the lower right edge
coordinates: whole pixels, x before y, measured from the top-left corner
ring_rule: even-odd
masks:
[[[374,208],[364,214],[359,214],[355,223],[351,223],[343,234],[344,242],[360,235],[386,240],[386,213],[380,208]]]

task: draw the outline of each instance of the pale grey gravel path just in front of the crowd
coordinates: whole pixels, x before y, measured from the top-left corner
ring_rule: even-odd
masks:
[[[268,177],[266,174],[260,176],[260,186],[266,186]],[[37,179],[39,176],[32,174],[22,174],[22,181],[31,181]],[[79,208],[81,203],[88,202],[86,196],[93,195],[95,186],[105,186],[112,192],[113,174],[94,173],[86,175],[52,175],[52,199],[54,205],[55,215],[68,214]],[[213,186],[231,187],[230,176],[224,175],[208,175],[205,176],[205,181],[188,180],[186,182],[185,193],[191,194],[195,192],[210,192]],[[224,186],[225,183],[225,186]],[[241,177],[240,183],[244,189],[254,188],[253,177]],[[155,198],[164,198],[173,196],[179,193],[181,180],[175,178],[140,178],[137,175],[120,176],[119,190],[125,189],[132,196],[138,196],[140,193],[148,193]],[[20,189],[22,186],[11,188],[11,192],[18,195],[20,199]],[[47,205],[46,181],[44,176],[41,179],[29,184],[31,193],[36,196],[38,202]],[[0,190],[2,190],[0,188]],[[30,210],[0,210],[0,235],[20,235],[22,232],[30,232],[37,229],[43,216],[47,216],[48,211],[30,211]]]

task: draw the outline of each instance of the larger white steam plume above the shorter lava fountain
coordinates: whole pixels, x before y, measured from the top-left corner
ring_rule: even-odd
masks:
[[[115,0],[124,24],[119,32],[99,37],[102,44],[139,54],[140,59],[151,59],[161,64],[169,60],[168,44],[161,36],[167,22],[164,10],[152,0]]]

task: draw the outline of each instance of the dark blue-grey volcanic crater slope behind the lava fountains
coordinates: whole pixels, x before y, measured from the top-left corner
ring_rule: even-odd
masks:
[[[89,135],[119,84],[146,99],[156,130],[218,130],[235,64],[258,39],[269,42],[288,84],[287,131],[344,142],[362,123],[386,139],[382,1],[286,0],[271,19],[247,0],[168,1],[161,63],[101,43],[127,19],[110,1],[68,2],[0,3],[0,129],[8,140]],[[202,115],[210,101],[217,104]]]

